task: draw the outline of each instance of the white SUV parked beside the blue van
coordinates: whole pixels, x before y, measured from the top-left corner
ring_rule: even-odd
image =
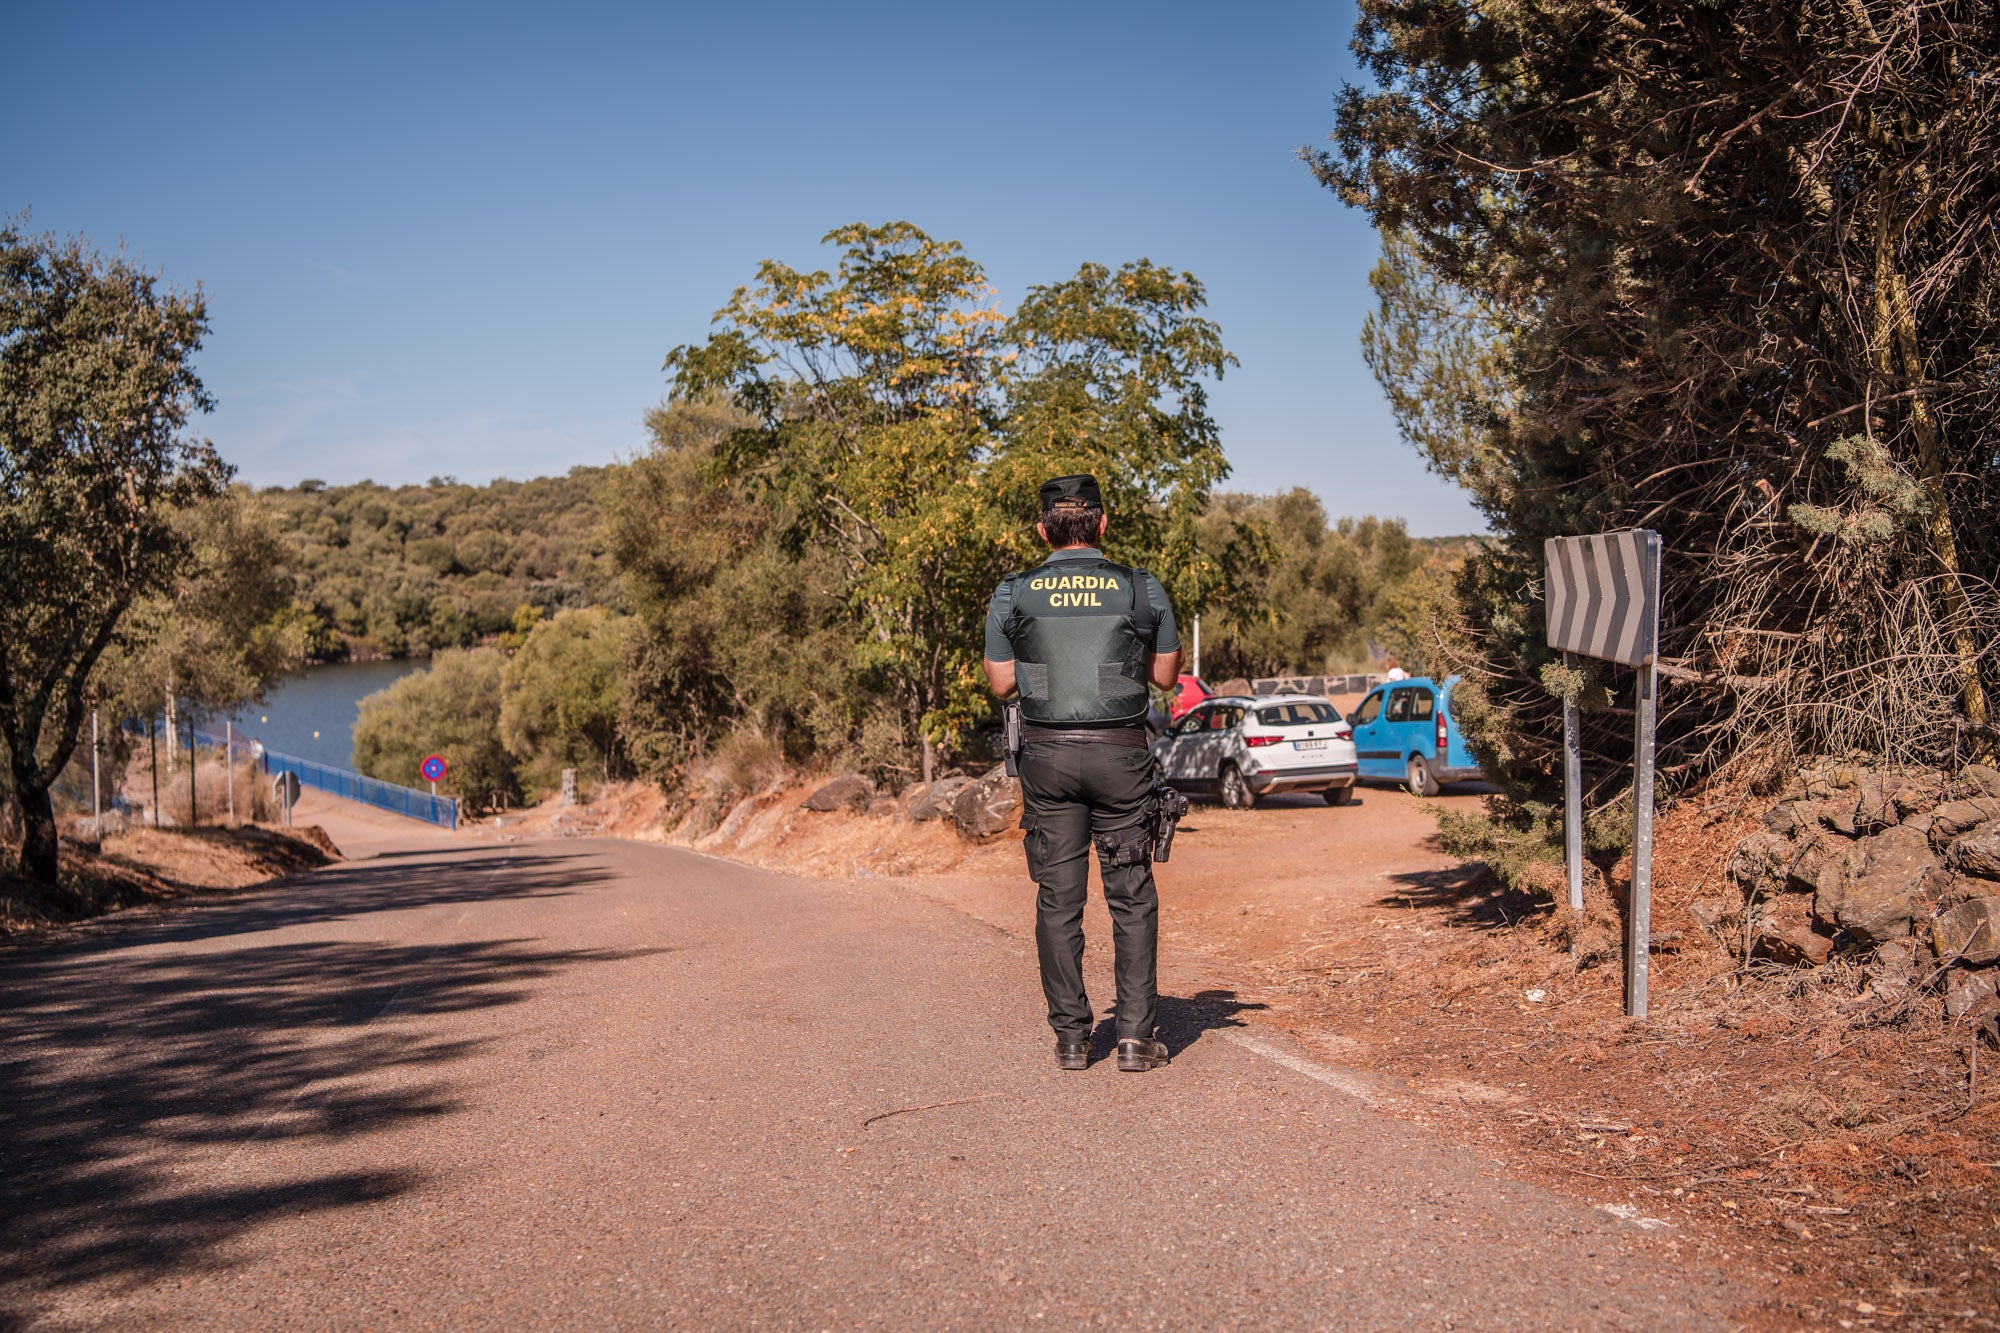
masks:
[[[1248,809],[1274,791],[1316,791],[1328,805],[1354,799],[1354,731],[1318,695],[1210,699],[1154,741],[1160,777],[1212,791]]]

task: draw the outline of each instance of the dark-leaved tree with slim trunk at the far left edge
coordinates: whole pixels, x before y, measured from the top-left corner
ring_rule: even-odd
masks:
[[[90,713],[90,677],[136,600],[194,558],[176,512],[228,468],[182,434],[210,406],[194,374],[200,292],[82,240],[0,226],[0,743],[22,869],[56,883],[48,789]]]

